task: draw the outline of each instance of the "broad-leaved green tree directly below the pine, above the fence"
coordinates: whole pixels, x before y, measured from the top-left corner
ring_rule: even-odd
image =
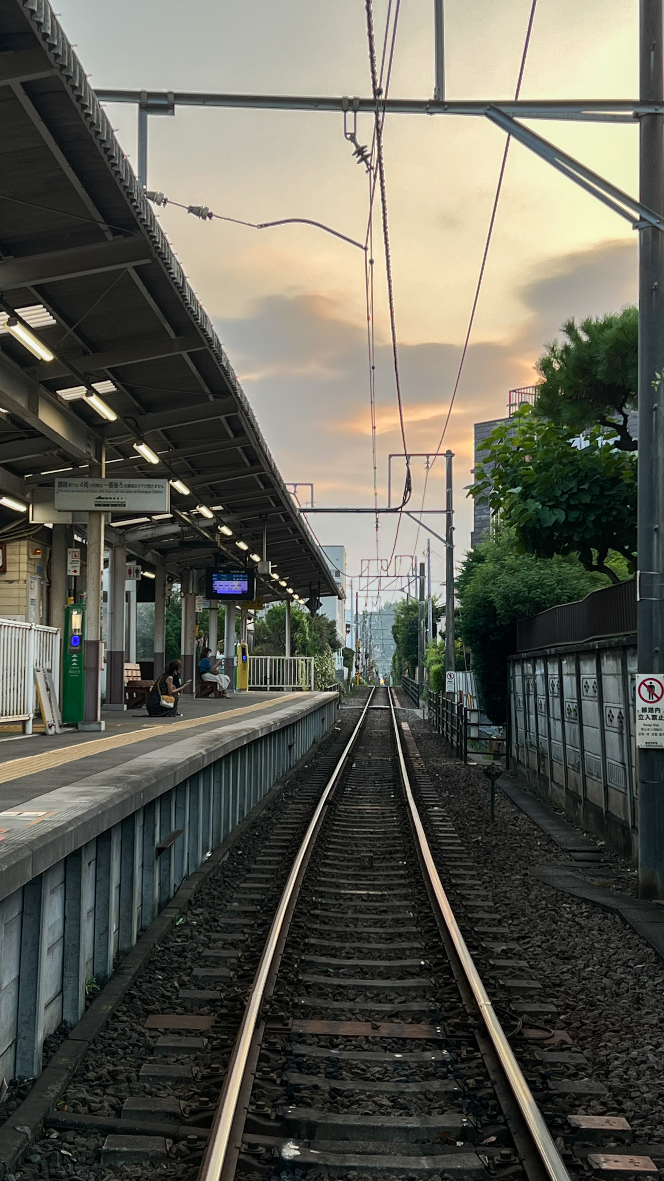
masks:
[[[636,455],[601,428],[576,446],[568,426],[522,406],[482,444],[471,495],[514,530],[517,549],[537,557],[578,555],[587,570],[619,582],[611,552],[631,568],[637,544]]]

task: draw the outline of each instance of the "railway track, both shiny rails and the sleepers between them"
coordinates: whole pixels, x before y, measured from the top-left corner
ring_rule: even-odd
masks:
[[[567,1181],[422,807],[445,836],[434,792],[415,802],[392,694],[376,690],[291,867],[199,1181],[238,1169]]]

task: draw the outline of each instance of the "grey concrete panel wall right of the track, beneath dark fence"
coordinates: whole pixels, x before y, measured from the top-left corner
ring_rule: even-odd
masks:
[[[636,857],[635,637],[509,661],[509,765],[623,856]]]

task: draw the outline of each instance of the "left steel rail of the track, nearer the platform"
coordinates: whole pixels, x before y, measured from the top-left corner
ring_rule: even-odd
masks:
[[[234,1055],[231,1059],[231,1065],[226,1075],[224,1083],[224,1090],[222,1092],[222,1098],[217,1113],[215,1115],[215,1121],[210,1130],[210,1140],[208,1141],[208,1148],[205,1150],[205,1156],[200,1164],[200,1172],[198,1174],[198,1181],[219,1181],[222,1175],[222,1169],[224,1167],[224,1161],[229,1149],[229,1141],[232,1133],[232,1125],[237,1111],[237,1103],[239,1098],[239,1092],[242,1083],[244,1079],[244,1074],[246,1070],[246,1062],[249,1058],[249,1052],[251,1050],[251,1043],[254,1035],[256,1032],[256,1026],[261,1017],[261,1009],[263,1005],[263,998],[265,996],[265,986],[268,984],[268,978],[270,976],[270,970],[275,959],[275,953],[277,950],[277,944],[282,934],[282,928],[287,916],[289,903],[292,899],[294,892],[297,886],[297,879],[304,859],[309,852],[318,821],[324,811],[324,808],[334,791],[336,784],[338,783],[340,776],[346,766],[348,757],[357,742],[360,731],[364,724],[367,717],[367,711],[372,703],[372,698],[375,693],[375,689],[372,689],[369,697],[367,698],[367,704],[362,710],[360,720],[355,726],[350,738],[348,739],[343,753],[341,755],[330,778],[328,779],[326,788],[316,804],[316,810],[309,823],[309,828],[304,834],[302,844],[300,846],[295,861],[290,868],[288,875],[288,881],[283,888],[282,896],[280,899],[265,946],[263,948],[263,954],[261,955],[261,963],[256,970],[256,976],[254,977],[254,984],[251,985],[251,993],[249,996],[249,1001],[246,1009],[244,1010],[244,1017],[242,1019],[242,1025],[237,1035],[235,1043]]]

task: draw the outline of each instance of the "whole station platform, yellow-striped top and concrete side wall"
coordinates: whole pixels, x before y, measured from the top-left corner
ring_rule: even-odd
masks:
[[[0,1077],[40,1072],[44,1039],[327,733],[338,693],[182,709],[0,742]]]

